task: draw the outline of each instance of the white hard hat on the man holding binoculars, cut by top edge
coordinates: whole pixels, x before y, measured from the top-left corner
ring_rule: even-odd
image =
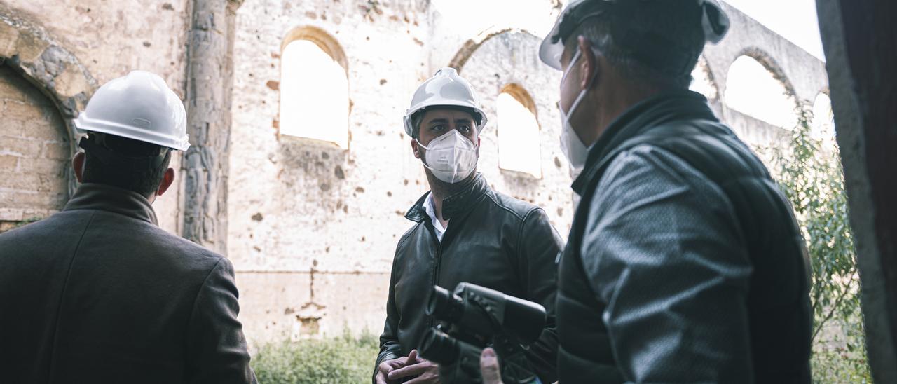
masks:
[[[588,18],[595,17],[604,13],[605,4],[623,3],[632,0],[573,0],[567,7],[563,9],[561,15],[558,16],[554,28],[545,39],[542,40],[542,46],[539,47],[539,58],[546,65],[562,71],[561,55],[563,54],[563,40],[567,39],[572,31],[575,31],[579,24]],[[680,0],[682,1],[682,0]],[[718,0],[688,0],[682,1],[683,4],[695,4],[701,7],[701,27],[704,30],[704,39],[707,42],[717,44],[729,28],[728,16],[723,12]]]

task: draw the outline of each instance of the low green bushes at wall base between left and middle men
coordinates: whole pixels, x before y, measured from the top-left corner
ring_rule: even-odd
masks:
[[[252,358],[259,383],[365,383],[377,360],[377,336],[368,333],[264,345]]]

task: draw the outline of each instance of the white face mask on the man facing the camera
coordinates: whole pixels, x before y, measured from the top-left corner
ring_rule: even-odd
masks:
[[[461,135],[457,129],[432,139],[429,147],[417,139],[414,141],[427,150],[423,166],[433,172],[436,179],[457,183],[467,179],[476,169],[476,144]]]

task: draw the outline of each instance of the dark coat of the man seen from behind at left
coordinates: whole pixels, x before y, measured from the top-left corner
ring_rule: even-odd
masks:
[[[7,383],[248,383],[233,267],[162,231],[134,192],[84,184],[0,234]]]

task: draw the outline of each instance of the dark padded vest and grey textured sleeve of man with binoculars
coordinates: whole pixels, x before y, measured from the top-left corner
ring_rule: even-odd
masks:
[[[706,184],[718,191],[714,201],[722,201],[725,210],[713,210],[703,206],[701,212],[679,212],[673,209],[677,198],[673,191],[661,192],[656,198],[637,197],[635,202],[597,201],[593,197],[597,189],[613,185],[612,178],[625,178],[621,172],[605,172],[618,155],[634,148],[641,153],[651,151],[667,153],[681,161],[681,167],[688,170],[673,170],[684,175],[692,170],[701,175]],[[627,152],[628,153],[628,152]],[[659,157],[658,157],[659,158]],[[651,158],[654,160],[657,158]],[[651,161],[647,161],[651,162]],[[663,167],[671,163],[653,162],[658,167],[654,174],[662,174]],[[615,175],[615,176],[614,176]],[[640,179],[632,182],[649,184],[650,171],[641,172]],[[636,186],[633,186],[635,188]],[[563,383],[616,383],[628,380],[643,380],[645,371],[658,372],[661,377],[648,380],[758,382],[758,383],[809,383],[810,382],[810,334],[812,312],[809,305],[808,269],[806,246],[801,238],[791,205],[779,191],[762,162],[742,143],[732,131],[721,124],[700,94],[694,92],[671,92],[644,100],[614,121],[590,149],[586,168],[574,181],[574,190],[582,196],[573,219],[567,249],[559,266],[558,288],[558,333],[560,338],[559,372]],[[621,186],[621,193],[625,188]],[[686,191],[692,193],[695,191]],[[620,200],[626,200],[624,195]],[[597,204],[615,206],[614,212],[596,209]],[[627,205],[628,204],[628,205]],[[674,228],[664,229],[648,239],[627,239],[627,243],[589,244],[588,254],[582,249],[584,231],[588,225],[605,231],[626,231],[633,215],[644,206],[655,207],[653,211],[662,214],[676,212]],[[715,206],[715,205],[714,205]],[[601,216],[605,217],[602,219]],[[627,216],[628,215],[628,216]],[[689,231],[697,226],[687,222],[712,220],[718,231],[727,233],[724,248],[726,252],[714,253],[718,233]],[[603,221],[602,221],[603,220]],[[650,220],[650,219],[648,219]],[[644,227],[650,223],[642,222]],[[620,228],[615,228],[619,226]],[[706,225],[704,225],[706,227]],[[599,230],[600,231],[600,230]],[[616,242],[621,240],[612,239]],[[658,241],[666,242],[667,252],[646,254],[645,249],[654,249]],[[628,252],[627,252],[628,250]],[[738,272],[726,270],[727,260],[744,255],[748,262],[744,287],[733,283],[731,275]],[[649,285],[654,291],[665,292],[667,288],[690,287],[676,291],[675,297],[664,300],[652,296],[653,301],[644,302],[643,311],[661,313],[658,317],[639,319],[614,319],[609,317],[622,297],[633,302],[638,290],[597,292],[605,282],[596,281],[597,257],[613,257],[628,264],[623,268],[623,280],[629,279],[631,287]],[[667,264],[663,264],[667,263]],[[674,276],[669,280],[650,279],[654,267],[675,263],[692,263],[692,274]],[[706,271],[720,271],[718,275],[707,276]],[[639,277],[636,277],[639,276]],[[646,278],[648,276],[648,278]],[[691,279],[691,280],[689,280]],[[677,280],[677,281],[676,281]],[[693,283],[690,283],[693,282]],[[605,288],[598,288],[599,290]],[[744,290],[744,291],[743,291]],[[633,292],[636,292],[633,294]],[[742,292],[745,292],[744,294]],[[608,300],[608,297],[610,300]],[[710,299],[709,299],[710,298]],[[746,332],[726,335],[712,327],[695,327],[705,324],[706,319],[716,316],[718,307],[707,308],[702,301],[729,298],[739,310],[725,311],[722,316],[743,316],[736,319],[746,323]],[[668,299],[668,300],[667,300]],[[717,312],[713,312],[717,310]],[[686,313],[687,315],[683,315]],[[640,314],[637,314],[640,316]],[[695,316],[699,319],[690,318]],[[638,317],[638,316],[633,316]],[[702,317],[702,319],[701,319]],[[661,323],[649,324],[649,319],[661,319]],[[625,335],[608,331],[607,324],[629,321],[640,329],[641,335]],[[725,329],[725,328],[721,328]],[[619,328],[616,329],[620,331]],[[713,338],[720,336],[720,338]],[[746,335],[745,335],[746,334]],[[647,337],[647,339],[646,339]],[[711,338],[713,338],[711,340]],[[700,339],[700,340],[699,340]],[[612,347],[626,340],[649,340],[639,345],[650,345],[653,350],[639,349],[638,345],[623,345],[634,349],[647,359],[652,367],[633,365],[632,361],[621,361],[621,351]],[[748,345],[742,355],[719,355],[718,351],[702,349],[705,341],[718,344]],[[675,351],[687,351],[686,356],[676,361]],[[628,351],[631,352],[631,351]],[[693,358],[705,356],[704,359]],[[623,358],[631,359],[632,353],[624,353]],[[748,371],[733,377],[725,367],[731,362],[748,367]],[[713,364],[719,364],[714,366]],[[666,365],[663,365],[666,364]],[[653,367],[657,365],[660,369]],[[666,371],[663,367],[667,368]],[[684,369],[683,369],[684,367]],[[691,367],[691,368],[689,368]],[[623,369],[626,368],[626,369]],[[720,371],[721,370],[721,371]],[[677,371],[671,375],[670,371]],[[679,375],[683,373],[684,376]],[[666,379],[664,379],[666,378]],[[679,379],[671,379],[679,378]]]

